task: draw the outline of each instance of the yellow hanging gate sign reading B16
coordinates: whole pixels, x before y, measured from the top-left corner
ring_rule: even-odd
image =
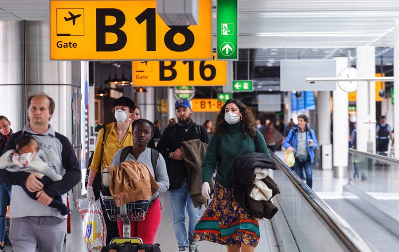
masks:
[[[133,61],[134,86],[226,85],[226,61]]]

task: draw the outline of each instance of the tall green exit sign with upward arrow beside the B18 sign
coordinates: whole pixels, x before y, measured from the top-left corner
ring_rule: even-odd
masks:
[[[237,0],[217,0],[217,59],[238,60]]]

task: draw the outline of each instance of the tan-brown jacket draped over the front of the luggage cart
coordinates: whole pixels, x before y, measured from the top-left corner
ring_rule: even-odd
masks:
[[[119,166],[109,166],[109,189],[117,207],[123,204],[150,200],[159,189],[150,169],[137,161],[125,161]]]

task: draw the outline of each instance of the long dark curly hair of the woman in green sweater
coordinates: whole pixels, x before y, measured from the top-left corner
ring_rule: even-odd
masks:
[[[255,116],[253,115],[252,111],[247,106],[245,106],[245,104],[242,103],[242,101],[240,101],[239,99],[226,100],[224,105],[221,107],[220,111],[216,115],[215,133],[221,136],[227,129],[228,123],[224,120],[224,110],[226,108],[226,105],[229,103],[234,103],[240,110],[242,122],[241,131],[242,133],[244,133],[244,139],[246,139],[247,133],[249,133],[252,138],[255,137]]]

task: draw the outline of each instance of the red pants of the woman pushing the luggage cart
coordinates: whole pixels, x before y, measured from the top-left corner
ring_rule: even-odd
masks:
[[[146,218],[143,221],[130,222],[130,236],[139,237],[144,244],[153,244],[159,224],[161,223],[161,203],[159,198],[148,208]],[[119,236],[123,236],[123,222],[118,221]]]

